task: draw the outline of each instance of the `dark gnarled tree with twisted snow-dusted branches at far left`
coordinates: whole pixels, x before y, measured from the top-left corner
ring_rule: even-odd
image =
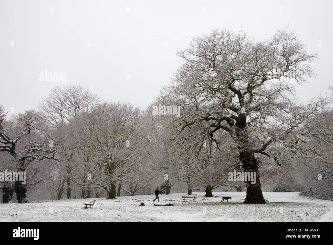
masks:
[[[14,117],[12,127],[16,130],[10,132],[4,128],[4,120],[7,113],[0,107],[0,152],[10,154],[16,163],[16,170],[26,171],[27,162],[42,161],[46,159],[59,159],[57,157],[58,142],[49,143],[47,127],[40,115],[34,111],[27,111]],[[19,130],[19,128],[21,130]],[[9,131],[9,132],[8,132]],[[27,141],[24,141],[25,138]],[[35,137],[34,137],[35,136]],[[18,144],[21,144],[18,147]],[[18,151],[18,149],[20,149]],[[5,202],[10,202],[13,195],[12,189],[6,185],[1,188],[4,191]],[[28,202],[26,199],[27,188],[21,181],[15,182],[15,193],[18,203]]]

